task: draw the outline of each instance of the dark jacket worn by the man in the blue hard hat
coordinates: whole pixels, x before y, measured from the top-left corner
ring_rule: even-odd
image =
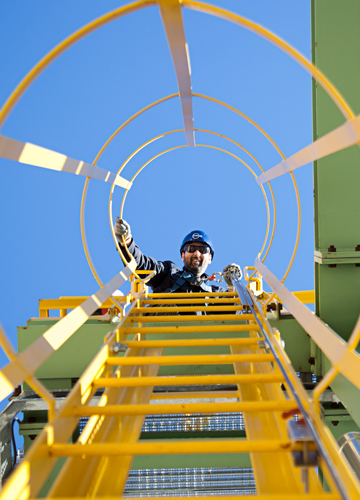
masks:
[[[125,259],[129,261],[129,256],[126,250],[119,245],[121,253],[124,255]],[[170,260],[165,260],[164,262],[157,261],[152,257],[147,257],[144,255],[139,247],[135,244],[134,240],[131,241],[128,246],[129,252],[134,256],[137,263],[137,270],[139,271],[156,271],[156,275],[147,284],[151,287],[154,293],[170,292],[174,283],[180,278],[182,272],[187,269],[184,267],[182,270],[177,267],[174,262]],[[191,273],[190,273],[191,274]],[[201,277],[206,277],[203,274]],[[194,281],[196,277],[194,276]],[[192,281],[192,280],[191,280]],[[210,285],[210,283],[208,283]],[[225,288],[216,285],[210,285],[212,292],[225,292]],[[177,290],[176,293],[198,293],[204,292],[200,286],[191,285],[188,281],[185,281]]]

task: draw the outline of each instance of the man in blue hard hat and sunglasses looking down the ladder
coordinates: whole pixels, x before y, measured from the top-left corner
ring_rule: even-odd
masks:
[[[180,246],[181,260],[184,262],[182,270],[169,260],[158,262],[152,257],[144,255],[135,244],[131,236],[130,225],[124,219],[116,218],[114,231],[120,243],[119,249],[127,261],[130,259],[124,249],[122,237],[125,238],[128,250],[136,260],[137,269],[156,271],[154,278],[147,283],[154,293],[225,291],[220,286],[206,284],[207,275],[205,271],[213,259],[214,250],[209,237],[203,231],[192,231],[185,236]],[[237,264],[231,264],[231,266],[236,269],[237,275],[241,277],[240,267]],[[227,271],[229,267],[227,266],[224,271]],[[225,276],[225,281],[231,286],[230,277]]]

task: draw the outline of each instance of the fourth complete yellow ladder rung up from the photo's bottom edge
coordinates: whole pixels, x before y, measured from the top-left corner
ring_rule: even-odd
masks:
[[[110,366],[132,365],[227,365],[231,363],[252,363],[274,361],[272,354],[198,354],[193,356],[128,356],[110,357],[106,364]]]

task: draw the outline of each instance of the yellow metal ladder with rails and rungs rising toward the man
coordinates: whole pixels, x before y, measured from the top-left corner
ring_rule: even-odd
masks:
[[[278,335],[248,289],[191,296],[148,294],[139,283],[123,303],[129,310],[7,482],[2,500],[35,498],[53,467],[62,464],[58,459],[65,463],[49,498],[119,498],[136,455],[218,453],[232,454],[234,466],[238,454],[250,454],[259,499],[332,500],[344,494],[358,498],[354,477],[333,452],[330,432],[312,411]],[[208,314],[193,314],[204,311]],[[214,353],[199,354],[204,348]],[[162,366],[193,365],[206,366],[207,374],[158,375]],[[220,365],[231,365],[233,373],[217,373]],[[204,402],[209,393],[199,386],[214,384],[236,384],[237,390],[216,392],[216,402]],[[156,386],[197,388],[159,395],[153,393]],[[99,389],[104,392],[93,406]],[[187,397],[191,402],[184,403]],[[164,402],[151,404],[153,399]],[[238,412],[244,416],[245,439],[139,441],[146,415],[166,419],[173,414]],[[316,439],[304,434],[307,427],[293,421],[293,414],[311,417]],[[84,417],[87,424],[71,443]],[[321,469],[331,493],[323,489],[314,465]]]

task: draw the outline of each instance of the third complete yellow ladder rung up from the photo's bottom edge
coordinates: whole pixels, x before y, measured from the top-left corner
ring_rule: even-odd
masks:
[[[121,377],[99,378],[94,387],[153,387],[156,385],[209,385],[209,384],[270,384],[283,382],[284,377],[277,373],[254,375],[194,375],[178,377]],[[219,394],[220,396],[220,394]]]

